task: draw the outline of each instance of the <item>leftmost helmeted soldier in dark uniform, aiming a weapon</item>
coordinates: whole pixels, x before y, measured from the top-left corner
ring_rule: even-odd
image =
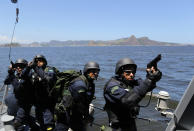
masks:
[[[13,94],[6,98],[8,114],[14,115],[14,126],[18,131],[25,130],[24,125],[31,127],[31,130],[38,130],[38,126],[30,116],[33,104],[33,87],[31,82],[31,71],[25,59],[16,60],[10,65],[5,84],[13,86]],[[12,109],[10,109],[12,108]],[[14,112],[17,112],[16,114]]]

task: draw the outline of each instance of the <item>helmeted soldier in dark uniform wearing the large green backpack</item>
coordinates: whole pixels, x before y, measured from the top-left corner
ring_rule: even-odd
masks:
[[[57,122],[56,131],[67,131],[69,127],[73,131],[86,131],[86,123],[91,123],[94,119],[89,114],[89,104],[94,99],[94,80],[98,78],[99,71],[98,63],[88,62],[84,66],[84,74],[71,82],[69,91],[73,98],[73,104],[71,110],[65,116],[65,121]],[[67,122],[68,119],[70,119],[69,122]]]

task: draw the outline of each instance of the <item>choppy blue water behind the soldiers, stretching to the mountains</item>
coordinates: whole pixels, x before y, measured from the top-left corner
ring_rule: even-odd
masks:
[[[9,48],[0,48],[0,86],[2,86],[3,80],[7,75],[9,66],[8,52]],[[154,92],[158,93],[160,90],[168,91],[171,99],[176,101],[181,99],[194,75],[194,47],[191,46],[23,47],[12,48],[11,58],[13,61],[17,58],[25,58],[31,61],[36,54],[45,55],[49,65],[55,66],[61,71],[65,69],[80,70],[83,69],[84,64],[88,61],[98,62],[101,71],[100,78],[96,82],[97,99],[94,101],[98,107],[103,107],[104,105],[103,86],[114,75],[116,62],[123,57],[130,57],[136,62],[138,65],[137,78],[145,78],[147,63],[158,54],[162,54],[162,60],[159,62],[158,67],[163,72],[163,77],[157,83],[158,88]],[[154,106],[155,103],[153,101],[153,105],[142,109],[141,114],[144,117],[160,119],[157,112],[153,111]],[[102,119],[104,120],[106,117],[106,114],[102,113],[102,111],[96,111],[95,115],[98,123],[102,122]],[[140,122],[139,127],[142,126],[142,129],[146,130],[145,125]],[[148,125],[146,127],[149,127]],[[162,127],[165,127],[165,125],[162,125]],[[163,129],[161,128],[161,130]]]

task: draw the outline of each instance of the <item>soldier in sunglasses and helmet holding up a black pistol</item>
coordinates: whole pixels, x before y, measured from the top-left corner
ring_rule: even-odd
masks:
[[[145,80],[135,79],[137,65],[130,58],[123,58],[116,64],[115,76],[105,85],[105,110],[113,131],[136,131],[135,116],[138,103],[156,87],[162,73],[151,67]]]

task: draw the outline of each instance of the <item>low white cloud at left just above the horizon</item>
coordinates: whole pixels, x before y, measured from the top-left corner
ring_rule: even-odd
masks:
[[[10,43],[11,42],[11,38],[5,35],[0,35],[0,43],[4,44],[4,43]],[[12,42],[17,42],[17,43],[31,43],[33,42],[32,40],[21,40],[21,39],[17,39],[17,38],[13,38]]]

